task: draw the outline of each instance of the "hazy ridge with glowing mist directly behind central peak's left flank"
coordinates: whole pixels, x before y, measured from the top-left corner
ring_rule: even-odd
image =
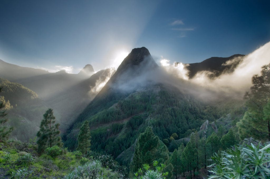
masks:
[[[100,70],[90,78],[79,82],[72,87],[51,95],[46,103],[61,114],[63,130],[69,128],[74,119],[95,98],[100,88],[110,79],[114,69]]]

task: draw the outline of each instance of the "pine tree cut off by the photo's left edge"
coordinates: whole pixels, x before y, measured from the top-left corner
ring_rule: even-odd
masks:
[[[1,91],[2,91],[2,87],[0,87],[0,92]],[[6,110],[5,110],[6,109],[6,104],[10,105],[9,101],[6,102],[4,100],[4,97],[1,97],[1,99],[0,99],[0,110],[2,110],[2,111],[0,111],[0,125],[3,125],[8,121],[8,119],[5,118],[5,116],[7,115]],[[6,139],[9,136],[9,134],[11,133],[12,130],[13,130],[13,127],[6,127],[6,126],[0,127],[0,140]]]

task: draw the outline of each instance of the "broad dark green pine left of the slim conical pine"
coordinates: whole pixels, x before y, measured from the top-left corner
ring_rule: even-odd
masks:
[[[37,133],[39,138],[37,141],[38,144],[38,153],[41,154],[47,147],[52,147],[58,145],[62,147],[59,124],[55,123],[55,116],[53,115],[53,110],[49,108],[45,114],[43,114],[44,119],[40,123],[40,130]]]

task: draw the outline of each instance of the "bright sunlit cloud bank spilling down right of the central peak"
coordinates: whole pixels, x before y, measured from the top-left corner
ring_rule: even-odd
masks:
[[[195,85],[193,87],[200,89],[193,90],[196,91],[197,94],[200,93],[199,95],[203,95],[203,92],[201,92],[201,90],[203,90],[242,98],[245,91],[248,91],[252,86],[252,76],[254,74],[260,74],[261,67],[263,65],[269,64],[270,42],[243,57],[242,61],[235,68],[234,72],[230,74],[224,73],[214,79],[209,78],[209,75],[211,75],[211,72],[209,71],[198,72],[192,79],[188,79],[188,70],[185,68],[186,64],[175,63],[168,65],[168,59],[166,59],[166,61],[161,59],[160,61],[166,62],[166,65],[161,66],[169,74],[173,75],[174,77],[178,77],[179,81],[174,81],[176,86],[181,86],[184,79],[184,81],[188,82],[190,85]],[[232,59],[223,65],[234,63],[234,61],[235,59]]]

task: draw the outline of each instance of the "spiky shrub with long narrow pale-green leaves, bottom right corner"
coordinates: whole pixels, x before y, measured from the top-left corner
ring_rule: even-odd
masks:
[[[211,157],[210,178],[269,178],[270,144],[243,144]]]

